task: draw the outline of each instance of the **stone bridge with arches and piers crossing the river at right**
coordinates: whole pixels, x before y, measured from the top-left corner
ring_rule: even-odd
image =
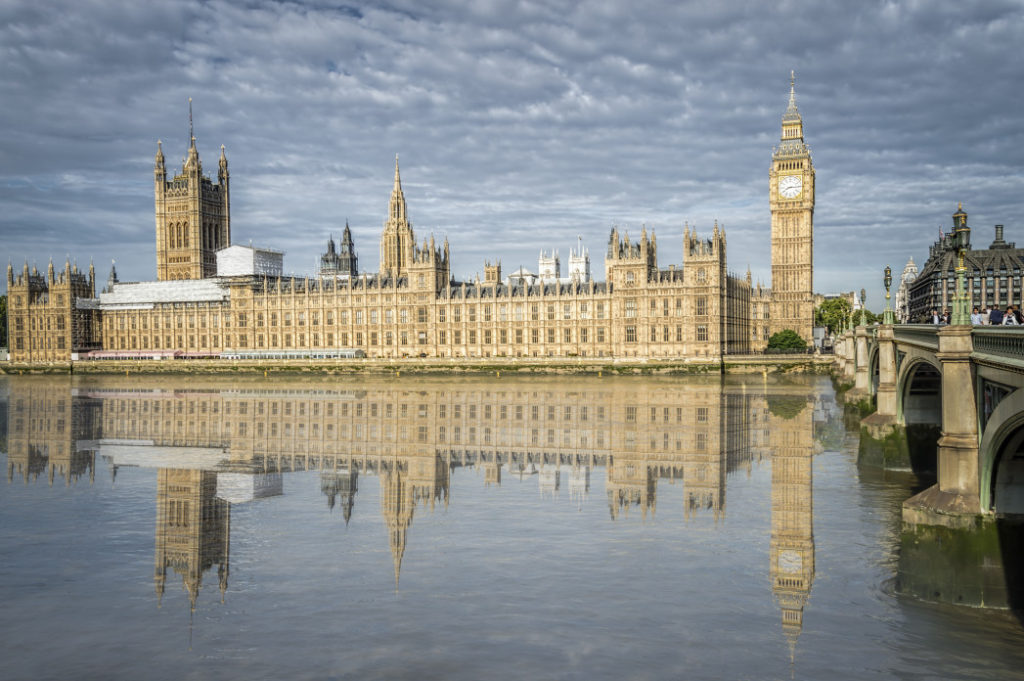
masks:
[[[904,520],[1024,517],[1024,328],[858,327],[837,341],[836,361],[853,382],[847,403],[873,408],[861,434],[881,463],[935,473],[904,503]]]

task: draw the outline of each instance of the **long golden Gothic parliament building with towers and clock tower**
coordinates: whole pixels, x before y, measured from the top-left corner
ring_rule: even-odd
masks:
[[[687,225],[682,260],[664,266],[653,233],[608,236],[605,281],[581,247],[560,276],[542,252],[539,275],[453,279],[447,241],[417,241],[397,158],[380,239],[380,268],[360,273],[348,225],[311,276],[284,274],[280,251],[232,245],[227,158],[216,182],[193,136],[181,171],[154,168],[157,281],[120,282],[66,262],[46,274],[8,265],[10,358],[96,356],[720,358],[764,349],[793,329],[811,340],[814,167],[791,80],[769,170],[771,289],[728,269],[725,229]],[[663,247],[664,247],[663,241]],[[678,244],[678,242],[677,242]],[[677,248],[673,245],[672,251]],[[678,251],[675,251],[678,253]],[[335,354],[332,355],[332,352]]]

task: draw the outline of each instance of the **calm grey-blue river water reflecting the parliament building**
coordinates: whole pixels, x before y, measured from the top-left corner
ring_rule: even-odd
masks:
[[[4,679],[1015,679],[821,377],[0,380]]]

